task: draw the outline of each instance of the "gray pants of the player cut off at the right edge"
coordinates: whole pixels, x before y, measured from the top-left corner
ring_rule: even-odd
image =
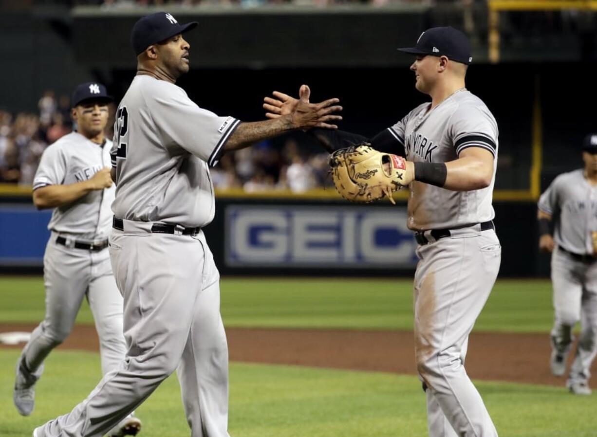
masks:
[[[574,325],[580,321],[576,357],[568,383],[588,383],[597,354],[597,262],[574,259],[555,248],[552,254],[553,309],[552,345],[565,353],[573,341]]]

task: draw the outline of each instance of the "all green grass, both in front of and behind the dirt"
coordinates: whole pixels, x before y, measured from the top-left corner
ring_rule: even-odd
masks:
[[[222,314],[229,327],[412,328],[411,281],[224,279]],[[0,278],[0,322],[38,322],[40,278]],[[90,323],[85,305],[79,322]],[[547,332],[552,323],[547,281],[500,281],[476,330]],[[12,405],[18,350],[0,350],[0,436],[29,437],[33,427],[69,411],[100,378],[99,355],[57,350],[38,384],[36,410]],[[500,436],[593,437],[597,395],[563,387],[478,381]],[[175,377],[139,409],[141,437],[188,436]],[[384,373],[249,365],[230,367],[233,437],[424,437],[425,401],[416,377]]]

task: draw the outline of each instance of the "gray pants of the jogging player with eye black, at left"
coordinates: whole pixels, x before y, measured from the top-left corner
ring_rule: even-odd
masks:
[[[44,254],[45,319],[33,330],[21,356],[27,368],[40,376],[44,359],[69,336],[87,297],[100,338],[101,371],[106,374],[119,367],[127,349],[122,336],[122,295],[109,253],[57,244],[58,235],[51,233]]]

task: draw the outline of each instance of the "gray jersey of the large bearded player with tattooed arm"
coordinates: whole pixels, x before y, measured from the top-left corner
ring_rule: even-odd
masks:
[[[150,76],[135,76],[116,116],[115,216],[210,223],[215,204],[208,165],[217,164],[239,121],[201,109],[182,88]]]

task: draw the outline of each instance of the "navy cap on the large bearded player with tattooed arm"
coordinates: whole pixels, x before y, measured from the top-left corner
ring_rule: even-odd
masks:
[[[133,26],[131,44],[133,44],[135,54],[139,55],[150,45],[158,44],[174,35],[194,29],[197,24],[197,21],[179,24],[172,14],[165,12],[146,15]]]

